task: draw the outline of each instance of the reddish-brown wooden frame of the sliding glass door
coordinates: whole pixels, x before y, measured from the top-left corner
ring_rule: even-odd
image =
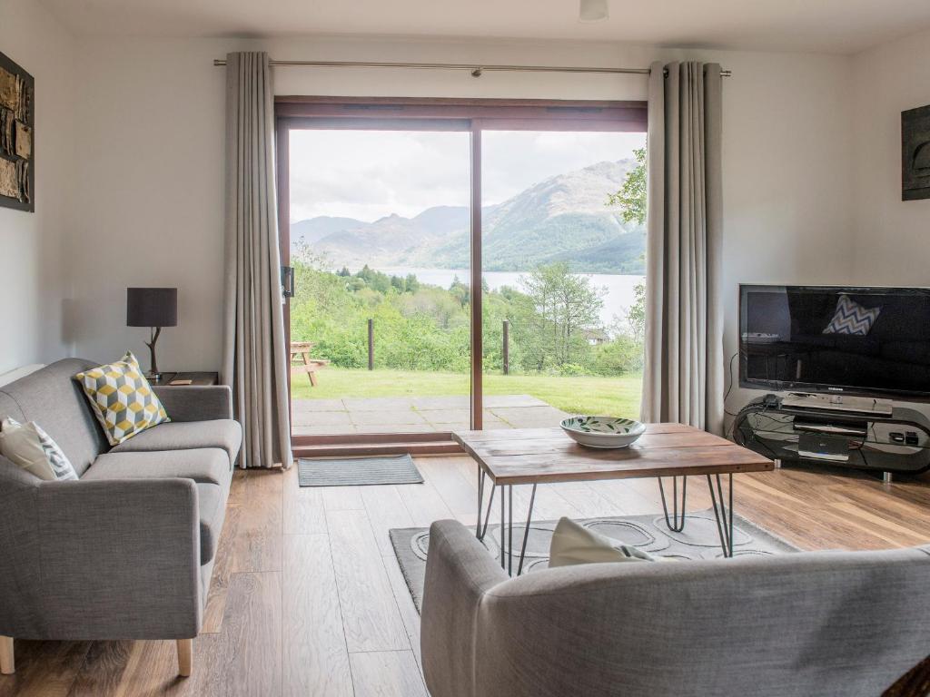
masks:
[[[405,130],[458,131],[471,134],[471,427],[481,430],[484,413],[482,344],[482,132],[500,131],[625,131],[645,132],[645,101],[563,99],[419,99],[366,97],[275,97],[278,236],[281,265],[290,266],[290,131]],[[290,346],[290,298],[285,299],[285,338]],[[289,364],[288,364],[289,369]],[[287,390],[290,404],[290,376]],[[301,446],[368,444],[368,453],[385,451],[391,443],[451,441],[451,432],[334,434],[293,436]],[[445,452],[442,448],[437,452]]]

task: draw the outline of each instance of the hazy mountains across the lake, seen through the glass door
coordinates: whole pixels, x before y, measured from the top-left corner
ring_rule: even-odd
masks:
[[[485,270],[532,269],[565,261],[572,270],[642,273],[644,230],[604,203],[635,166],[601,162],[534,184],[483,209]],[[371,223],[314,217],[291,225],[291,243],[306,243],[334,268],[465,269],[470,263],[467,206],[434,206],[416,217]]]

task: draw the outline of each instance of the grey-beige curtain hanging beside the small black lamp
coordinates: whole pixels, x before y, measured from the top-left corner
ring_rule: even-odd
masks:
[[[244,431],[241,467],[292,462],[272,92],[267,54],[227,55],[222,379]]]

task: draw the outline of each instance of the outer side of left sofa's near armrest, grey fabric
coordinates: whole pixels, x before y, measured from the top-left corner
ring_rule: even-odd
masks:
[[[10,636],[197,635],[203,603],[193,480],[46,482],[35,487],[34,507],[38,584],[31,597],[4,598],[26,605],[33,626]]]

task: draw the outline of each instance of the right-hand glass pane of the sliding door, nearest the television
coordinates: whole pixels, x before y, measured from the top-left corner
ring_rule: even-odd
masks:
[[[645,234],[616,194],[644,147],[644,133],[483,133],[485,428],[639,413]]]

